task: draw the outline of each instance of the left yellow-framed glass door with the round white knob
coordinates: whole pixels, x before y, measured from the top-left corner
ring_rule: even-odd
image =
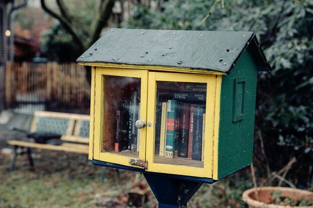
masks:
[[[146,120],[147,71],[97,68],[96,79],[101,83],[95,86],[98,159],[123,165],[144,161],[146,132],[135,123]]]

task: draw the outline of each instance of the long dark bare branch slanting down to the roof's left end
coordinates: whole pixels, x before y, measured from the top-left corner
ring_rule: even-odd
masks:
[[[75,44],[77,44],[79,50],[80,51],[84,51],[85,46],[83,44],[83,41],[81,41],[81,39],[77,36],[75,31],[72,29],[70,23],[66,19],[64,19],[62,16],[60,16],[59,14],[57,14],[56,12],[54,12],[50,8],[48,8],[47,5],[46,5],[45,0],[40,0],[40,2],[41,2],[42,8],[47,13],[49,13],[51,16],[53,16],[54,18],[58,19],[60,21],[60,23],[62,24],[62,26],[64,27],[64,29],[66,29],[66,31],[68,31],[70,33],[70,35],[72,35],[73,41],[75,42]]]

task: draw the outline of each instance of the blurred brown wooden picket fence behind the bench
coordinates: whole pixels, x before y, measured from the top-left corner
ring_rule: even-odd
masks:
[[[90,84],[84,66],[76,63],[22,62],[6,65],[6,103],[44,103],[46,106],[86,108],[90,105]]]

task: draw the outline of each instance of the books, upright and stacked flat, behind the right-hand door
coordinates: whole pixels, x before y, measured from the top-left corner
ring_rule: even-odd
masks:
[[[204,159],[206,84],[181,83],[156,110],[155,153],[165,157]],[[159,100],[157,102],[160,102]],[[157,106],[158,108],[158,106]],[[160,139],[160,142],[158,141]]]

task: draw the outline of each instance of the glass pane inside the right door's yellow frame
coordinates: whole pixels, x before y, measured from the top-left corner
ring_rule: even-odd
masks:
[[[207,84],[156,82],[155,163],[203,167]]]

